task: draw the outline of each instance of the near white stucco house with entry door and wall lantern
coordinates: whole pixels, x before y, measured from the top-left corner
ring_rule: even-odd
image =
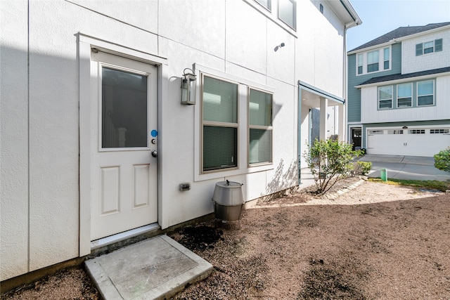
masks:
[[[348,0],[1,1],[0,20],[1,280],[212,214],[218,181],[295,188],[314,108],[345,139]]]

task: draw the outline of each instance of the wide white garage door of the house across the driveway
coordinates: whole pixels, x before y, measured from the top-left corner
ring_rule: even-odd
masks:
[[[450,146],[450,129],[368,129],[367,153],[432,157]]]

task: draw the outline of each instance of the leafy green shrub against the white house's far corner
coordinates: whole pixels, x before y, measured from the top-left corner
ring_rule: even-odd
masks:
[[[337,181],[349,174],[353,169],[352,159],[360,154],[361,151],[352,150],[352,145],[330,138],[307,145],[303,157],[314,176],[317,192],[328,192]]]

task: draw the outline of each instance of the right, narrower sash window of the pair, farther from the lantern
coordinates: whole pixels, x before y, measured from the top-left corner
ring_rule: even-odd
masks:
[[[249,89],[249,164],[272,162],[272,94]]]

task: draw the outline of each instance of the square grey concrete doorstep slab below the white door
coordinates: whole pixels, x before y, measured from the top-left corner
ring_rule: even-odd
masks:
[[[167,235],[86,261],[103,299],[167,299],[207,278],[212,264]]]

